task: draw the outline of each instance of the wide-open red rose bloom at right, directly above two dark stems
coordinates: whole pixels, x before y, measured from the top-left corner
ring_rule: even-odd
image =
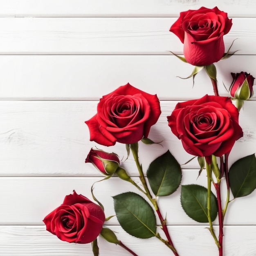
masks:
[[[218,157],[229,153],[243,136],[238,110],[228,97],[208,96],[177,103],[168,126],[191,155]]]

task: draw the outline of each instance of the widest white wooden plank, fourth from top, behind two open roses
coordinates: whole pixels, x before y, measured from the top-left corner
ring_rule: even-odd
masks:
[[[124,144],[112,147],[89,141],[84,124],[96,113],[98,101],[0,101],[0,175],[3,176],[95,176],[100,175],[92,164],[85,164],[91,147],[115,152],[126,159]],[[139,156],[145,170],[150,162],[168,149],[184,164],[192,158],[168,127],[167,115],[177,101],[161,101],[162,114],[149,134],[160,145],[140,143]],[[244,137],[234,145],[230,164],[256,152],[255,101],[245,102],[240,112]],[[130,175],[138,175],[132,157],[123,163]],[[182,168],[198,168],[196,159]]]

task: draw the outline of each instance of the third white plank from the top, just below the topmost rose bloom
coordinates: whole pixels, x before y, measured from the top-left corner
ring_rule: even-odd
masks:
[[[216,68],[220,95],[228,96],[222,82],[229,88],[231,72],[245,71],[256,77],[256,56],[231,56],[216,63]],[[0,70],[2,100],[99,100],[128,82],[162,100],[213,94],[204,70],[195,76],[194,86],[192,78],[177,77],[189,76],[193,66],[173,55],[2,55]]]

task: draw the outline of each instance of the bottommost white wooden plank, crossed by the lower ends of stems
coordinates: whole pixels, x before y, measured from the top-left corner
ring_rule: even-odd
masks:
[[[171,252],[156,238],[138,239],[129,236],[119,226],[108,226],[117,237],[138,255],[169,256]],[[169,226],[172,239],[181,256],[216,256],[218,250],[207,226]],[[256,227],[226,226],[224,228],[225,256],[255,256]],[[162,232],[160,231],[161,235]],[[70,244],[45,231],[44,226],[1,226],[1,256],[92,256],[91,245]],[[100,255],[129,256],[115,244],[99,238]]]

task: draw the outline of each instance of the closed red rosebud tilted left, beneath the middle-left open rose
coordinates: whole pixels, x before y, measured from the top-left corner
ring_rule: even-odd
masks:
[[[91,148],[85,163],[92,163],[103,175],[112,175],[119,168],[119,158],[115,153]]]

